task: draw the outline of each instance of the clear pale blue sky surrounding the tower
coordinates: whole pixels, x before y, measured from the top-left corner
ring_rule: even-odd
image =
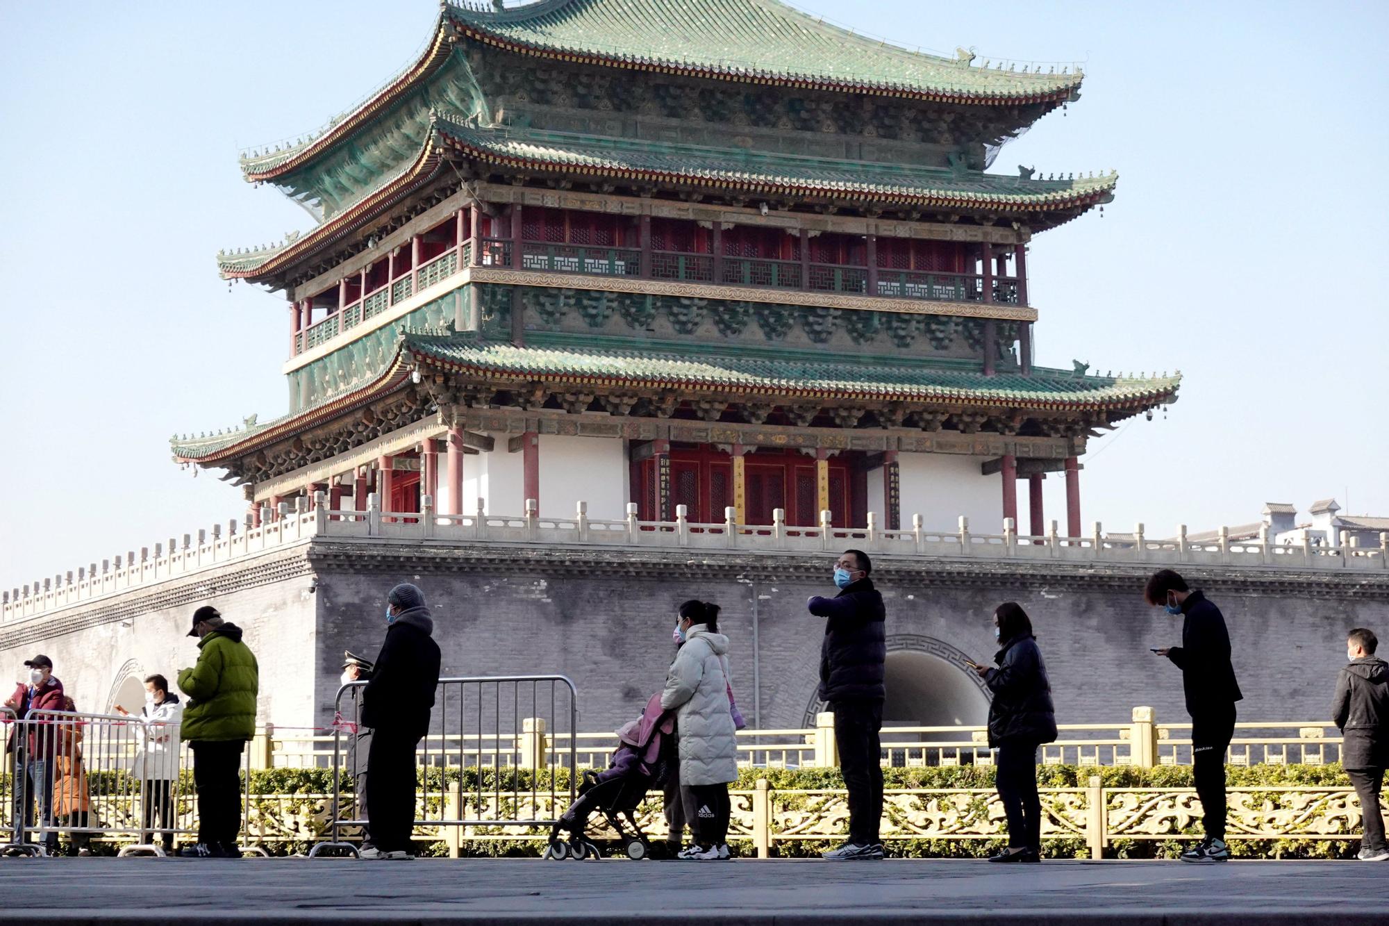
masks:
[[[947,54],[1085,63],[1083,99],[995,165],[1121,174],[1103,218],[1033,245],[1038,360],[1186,377],[1165,419],[1093,444],[1086,523],[1165,534],[1253,521],[1265,501],[1346,505],[1347,489],[1349,509],[1389,514],[1389,4],[799,6]],[[243,512],[167,444],[286,407],[285,303],[228,289],[213,256],[311,222],[244,184],[238,149],[351,106],[435,14],[0,4],[0,585]],[[1049,517],[1060,492],[1049,480]]]

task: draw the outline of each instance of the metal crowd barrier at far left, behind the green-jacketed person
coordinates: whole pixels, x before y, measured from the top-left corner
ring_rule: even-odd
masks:
[[[193,751],[179,741],[178,724],[67,710],[31,710],[22,720],[4,710],[0,722],[14,731],[6,762],[13,774],[0,779],[10,816],[0,854],[47,855],[61,836],[76,850],[124,837],[131,843],[122,856],[165,855],[163,843],[196,837]],[[250,774],[242,755],[244,833]]]

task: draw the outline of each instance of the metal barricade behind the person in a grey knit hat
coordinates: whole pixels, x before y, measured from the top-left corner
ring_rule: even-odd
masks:
[[[344,830],[356,829],[358,837],[369,831],[360,802],[369,748],[364,740],[372,736],[358,713],[367,684],[351,681],[338,690],[331,837],[315,844],[310,856],[328,851],[357,854]],[[417,779],[417,806],[424,812],[414,826],[449,830],[446,838],[454,854],[463,827],[553,826],[574,801],[578,786],[578,690],[565,676],[440,679],[431,733],[415,751],[422,779]],[[349,737],[350,744],[344,744]],[[567,745],[557,751],[557,741]],[[344,745],[351,747],[346,755]],[[350,802],[343,794],[347,776],[353,777]]]

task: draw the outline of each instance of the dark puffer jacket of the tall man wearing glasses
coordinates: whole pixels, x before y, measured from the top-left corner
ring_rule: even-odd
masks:
[[[828,617],[820,645],[820,699],[882,701],[888,662],[888,612],[871,578],[860,578],[833,598],[815,595],[810,613]]]

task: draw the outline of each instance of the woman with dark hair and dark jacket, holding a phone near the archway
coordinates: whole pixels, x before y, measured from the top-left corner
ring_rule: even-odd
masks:
[[[1008,848],[990,862],[1042,861],[1042,798],[1038,795],[1038,747],[1056,741],[1056,708],[1046,663],[1032,634],[1032,620],[1015,602],[993,612],[1000,649],[993,666],[974,665],[993,692],[989,748],[997,751],[995,784],[1008,815]]]

